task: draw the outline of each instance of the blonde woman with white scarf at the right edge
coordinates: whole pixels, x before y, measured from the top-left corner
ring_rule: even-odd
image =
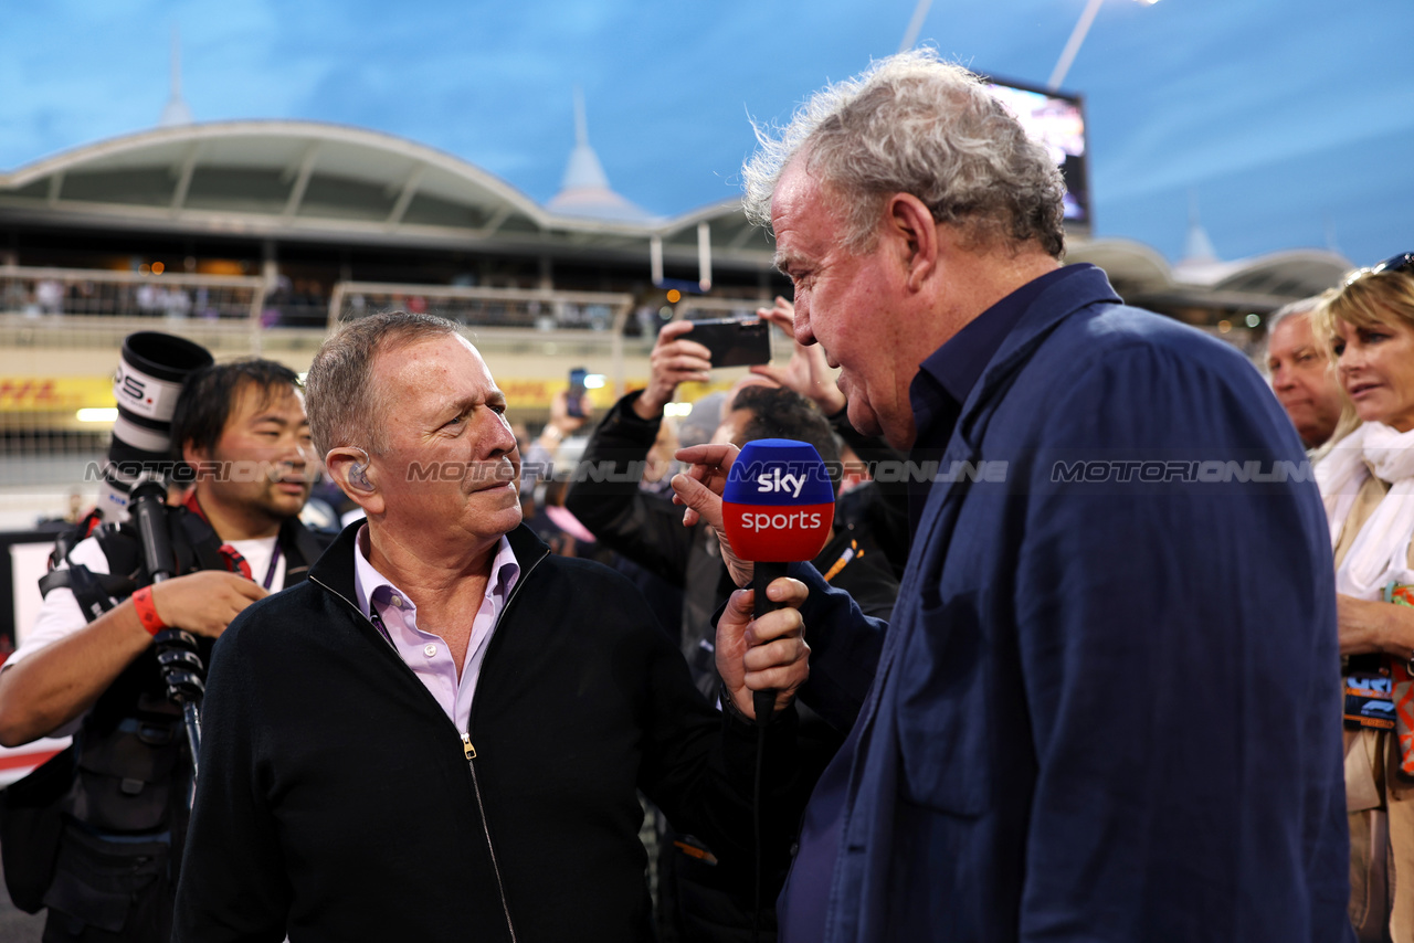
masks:
[[[1350,920],[1414,940],[1414,253],[1353,273],[1315,312],[1359,420],[1316,479],[1346,667]]]

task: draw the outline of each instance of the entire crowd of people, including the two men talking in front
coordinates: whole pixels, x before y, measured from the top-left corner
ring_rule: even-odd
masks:
[[[1414,254],[1275,312],[1264,379],[1063,264],[1056,167],[928,51],[744,180],[793,353],[683,421],[691,322],[534,437],[420,312],[188,379],[180,457],[271,474],[198,478],[173,580],[79,543],[0,672],[0,742],[78,734],[0,848],[47,940],[1414,940]],[[754,615],[762,438],[840,474]],[[1203,471],[1253,462],[1295,474]]]

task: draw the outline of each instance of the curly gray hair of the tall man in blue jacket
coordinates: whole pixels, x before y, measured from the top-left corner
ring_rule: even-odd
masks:
[[[805,154],[846,213],[846,246],[874,246],[882,199],[918,197],[933,221],[957,226],[971,245],[1035,239],[1065,253],[1065,182],[1045,147],[984,81],[911,49],[829,85],[772,137],[755,126],[759,150],[742,167],[747,218],[771,225],[771,198],[786,165]]]

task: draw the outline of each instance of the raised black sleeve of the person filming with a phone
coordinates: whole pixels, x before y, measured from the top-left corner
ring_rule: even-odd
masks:
[[[564,506],[604,546],[682,587],[693,532],[670,498],[638,486],[660,424],[639,418],[632,407],[638,397],[635,390],[621,399],[594,430]]]

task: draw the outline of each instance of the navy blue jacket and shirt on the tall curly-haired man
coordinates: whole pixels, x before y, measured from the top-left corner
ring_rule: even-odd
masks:
[[[959,332],[918,377],[918,445],[1004,474],[930,482],[888,626],[792,566],[803,697],[853,725],[781,940],[1348,939],[1319,495],[1192,471],[1298,468],[1291,423],[1240,353],[1102,271],[1031,287],[1000,346],[960,356]]]

